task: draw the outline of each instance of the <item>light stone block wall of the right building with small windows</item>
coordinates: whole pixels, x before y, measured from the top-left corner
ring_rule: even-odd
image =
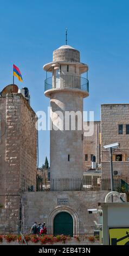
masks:
[[[129,124],[129,104],[101,105],[101,162],[102,178],[109,174],[109,152],[104,145],[115,142],[120,148],[113,150],[113,170],[119,170],[121,178],[128,177],[129,162],[129,135],[126,135],[126,124]],[[123,134],[119,135],[118,125],[123,125]],[[122,161],[115,161],[115,155],[122,154]],[[128,180],[129,181],[129,180]]]

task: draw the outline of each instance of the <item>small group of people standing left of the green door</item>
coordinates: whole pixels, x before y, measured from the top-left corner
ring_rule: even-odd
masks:
[[[34,225],[30,229],[30,234],[34,235],[46,235],[47,234],[47,228],[46,228],[46,223],[38,223],[34,222]]]

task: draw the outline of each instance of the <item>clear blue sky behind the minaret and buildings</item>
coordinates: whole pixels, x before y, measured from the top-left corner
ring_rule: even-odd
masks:
[[[0,0],[0,90],[12,82],[12,65],[20,68],[34,111],[47,111],[46,74],[42,66],[65,44],[78,49],[89,65],[89,97],[84,110],[100,120],[102,103],[129,103],[128,0]],[[33,139],[33,138],[31,138]],[[49,131],[39,132],[40,166],[49,159]]]

